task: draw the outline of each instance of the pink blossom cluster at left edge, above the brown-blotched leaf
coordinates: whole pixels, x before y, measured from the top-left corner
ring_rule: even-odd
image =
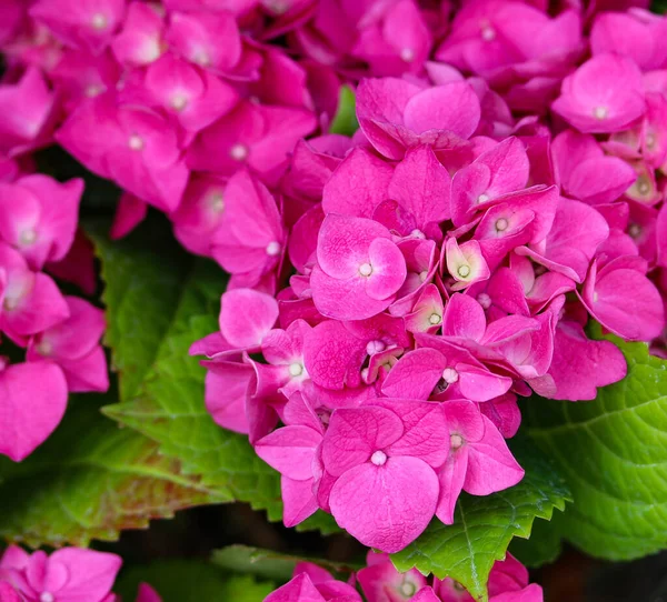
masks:
[[[2,140],[2,137],[0,137]],[[94,274],[77,264],[81,180],[60,183],[22,174],[4,162],[0,174],[0,333],[26,349],[22,363],[0,357],[0,453],[30,454],[56,429],[68,392],[106,391],[107,360],[99,344],[103,312],[64,295],[46,271],[89,292]],[[72,254],[72,251],[74,254]]]

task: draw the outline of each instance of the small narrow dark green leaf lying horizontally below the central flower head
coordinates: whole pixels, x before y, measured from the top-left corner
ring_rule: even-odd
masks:
[[[358,571],[362,568],[360,564],[332,562],[319,558],[296,556],[248,545],[229,545],[222,550],[216,550],[211,558],[213,564],[227,571],[271,579],[279,582],[289,581],[295,566],[302,561],[313,562],[335,575],[344,574],[346,579],[352,571]]]

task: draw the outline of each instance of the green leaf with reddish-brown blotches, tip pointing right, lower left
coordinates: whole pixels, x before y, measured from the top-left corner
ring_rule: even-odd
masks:
[[[219,500],[153,441],[102,417],[99,401],[70,399],[60,427],[30,458],[0,460],[0,539],[33,548],[113,541],[122,529]]]

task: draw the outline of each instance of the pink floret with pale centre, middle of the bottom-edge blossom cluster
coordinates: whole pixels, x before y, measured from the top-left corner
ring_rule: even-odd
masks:
[[[417,569],[399,573],[387,554],[369,551],[367,564],[357,579],[368,602],[405,602],[427,586],[426,578]]]

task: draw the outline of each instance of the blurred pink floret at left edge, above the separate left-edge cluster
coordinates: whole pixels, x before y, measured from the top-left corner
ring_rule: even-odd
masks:
[[[37,68],[28,68],[17,83],[0,84],[0,152],[14,155],[47,142],[54,106]]]

